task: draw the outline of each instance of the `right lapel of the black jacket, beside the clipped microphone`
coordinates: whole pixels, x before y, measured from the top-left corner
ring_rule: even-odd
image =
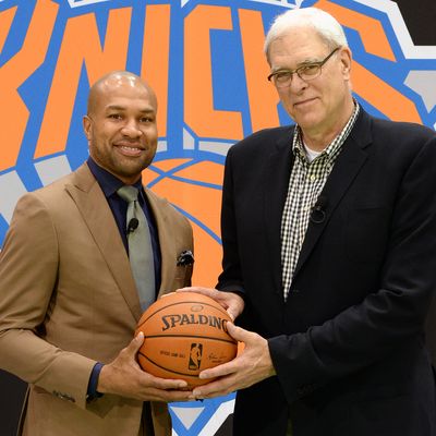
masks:
[[[326,217],[323,222],[308,222],[307,231],[304,238],[303,246],[300,252],[300,257],[296,263],[294,277],[299,274],[301,267],[307,259],[316,241],[319,239],[326,228],[331,214],[338,206],[339,202],[347,193],[354,178],[364,165],[367,153],[365,146],[371,143],[370,134],[370,117],[362,110],[355,125],[349,137],[342,145],[342,152],[339,154],[334,169],[327,179],[326,184],[320,193],[320,196],[326,198],[325,213]]]

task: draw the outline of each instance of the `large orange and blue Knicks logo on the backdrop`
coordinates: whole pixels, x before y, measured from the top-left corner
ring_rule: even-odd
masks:
[[[193,282],[214,286],[225,156],[250,133],[291,122],[266,80],[262,51],[269,23],[286,8],[315,5],[344,26],[353,90],[366,110],[435,124],[435,47],[410,43],[392,1],[149,3],[0,2],[0,243],[22,194],[87,158],[81,120],[89,83],[126,69],[159,100],[159,147],[144,182],[191,220]]]

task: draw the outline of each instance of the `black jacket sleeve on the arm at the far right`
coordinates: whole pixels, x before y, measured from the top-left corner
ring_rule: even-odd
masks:
[[[422,335],[436,286],[436,141],[427,140],[398,186],[379,289],[323,325],[269,339],[289,402],[382,360]]]

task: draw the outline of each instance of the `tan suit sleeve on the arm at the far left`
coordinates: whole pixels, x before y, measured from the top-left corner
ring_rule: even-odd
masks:
[[[26,194],[0,253],[0,367],[85,408],[96,362],[41,338],[56,296],[58,265],[50,214],[36,194]]]

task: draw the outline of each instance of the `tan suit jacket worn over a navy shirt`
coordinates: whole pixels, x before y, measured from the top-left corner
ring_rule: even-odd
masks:
[[[193,250],[187,220],[146,190],[161,251],[159,294],[190,283],[177,266]],[[137,436],[141,401],[105,395],[89,403],[94,364],[111,362],[141,317],[113,215],[87,165],[24,195],[0,254],[0,367],[29,384],[20,433]],[[167,404],[152,403],[157,436],[170,435]]]

